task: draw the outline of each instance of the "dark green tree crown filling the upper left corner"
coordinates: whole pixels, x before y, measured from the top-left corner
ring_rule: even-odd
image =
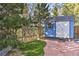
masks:
[[[0,29],[8,32],[20,28],[23,24],[22,11],[23,4],[0,4]]]

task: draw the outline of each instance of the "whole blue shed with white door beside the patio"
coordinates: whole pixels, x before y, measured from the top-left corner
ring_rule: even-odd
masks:
[[[44,34],[45,37],[74,38],[74,17],[49,17],[45,21]]]

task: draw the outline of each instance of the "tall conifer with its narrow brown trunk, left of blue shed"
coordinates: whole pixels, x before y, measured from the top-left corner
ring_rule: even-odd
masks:
[[[38,34],[39,34],[39,38],[41,37],[42,34],[42,22],[44,21],[44,19],[48,18],[49,16],[49,5],[47,3],[40,3],[37,4],[36,7],[36,11],[35,11],[35,22],[37,22],[38,24]]]

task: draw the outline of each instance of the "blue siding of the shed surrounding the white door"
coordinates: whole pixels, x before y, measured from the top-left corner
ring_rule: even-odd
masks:
[[[45,27],[44,27],[45,36],[56,37],[56,22],[57,21],[69,21],[69,38],[74,38],[74,17],[73,16],[70,16],[70,17],[62,16],[60,18],[56,18],[55,21],[53,21],[54,23],[51,25],[52,26],[51,28],[48,28],[48,24],[45,23]]]

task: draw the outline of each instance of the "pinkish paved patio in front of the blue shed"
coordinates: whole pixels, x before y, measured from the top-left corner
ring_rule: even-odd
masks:
[[[79,43],[74,41],[45,40],[45,56],[79,56]]]

